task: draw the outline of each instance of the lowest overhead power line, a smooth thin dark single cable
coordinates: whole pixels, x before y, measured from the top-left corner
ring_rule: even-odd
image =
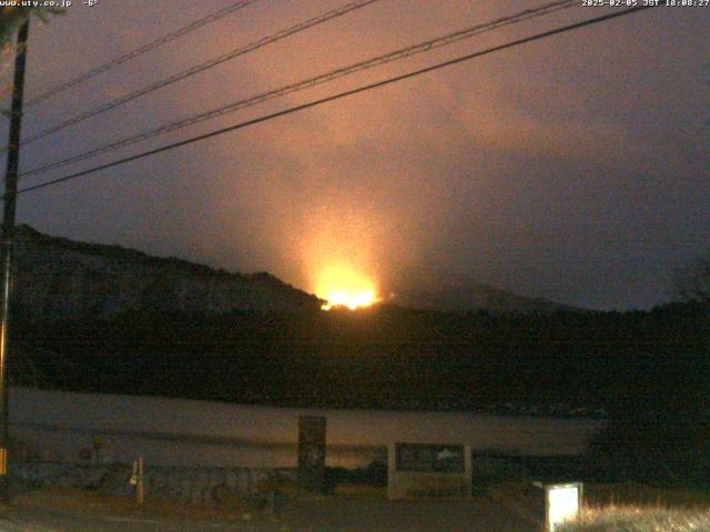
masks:
[[[322,98],[322,99],[318,99],[318,100],[314,100],[314,101],[311,101],[311,102],[307,102],[307,103],[304,103],[304,104],[301,104],[301,105],[296,105],[296,106],[288,108],[288,109],[282,110],[282,111],[277,111],[275,113],[271,113],[271,114],[266,114],[266,115],[263,115],[263,116],[258,116],[256,119],[247,120],[246,122],[241,122],[239,124],[230,125],[227,127],[222,127],[222,129],[219,129],[219,130],[215,130],[215,131],[211,131],[210,133],[205,133],[205,134],[193,136],[191,139],[186,139],[186,140],[183,140],[183,141],[174,142],[172,144],[166,144],[164,146],[161,146],[161,147],[158,147],[158,149],[154,149],[154,150],[149,150],[146,152],[142,152],[142,153],[139,153],[139,154],[135,154],[135,155],[123,157],[123,158],[113,161],[111,163],[106,163],[106,164],[102,164],[102,165],[99,165],[99,166],[94,166],[92,168],[83,170],[81,172],[77,172],[77,173],[73,173],[73,174],[70,174],[70,175],[65,175],[63,177],[58,177],[58,178],[54,178],[54,180],[45,181],[43,183],[38,183],[37,185],[31,185],[31,186],[21,188],[20,191],[17,192],[17,194],[19,195],[19,194],[23,194],[23,193],[27,193],[27,192],[38,191],[40,188],[47,188],[49,186],[57,185],[59,183],[65,183],[68,181],[73,181],[73,180],[77,180],[79,177],[83,177],[85,175],[100,172],[102,170],[112,168],[114,166],[119,166],[119,165],[122,165],[122,164],[125,164],[125,163],[138,161],[140,158],[145,158],[145,157],[149,157],[151,155],[155,155],[155,154],[159,154],[159,153],[162,153],[162,152],[166,152],[166,151],[170,151],[170,150],[173,150],[173,149],[176,149],[176,147],[185,146],[187,144],[193,144],[195,142],[200,142],[200,141],[204,141],[206,139],[212,139],[214,136],[223,135],[223,134],[230,133],[232,131],[241,130],[241,129],[247,127],[250,125],[254,125],[254,124],[258,124],[258,123],[262,123],[262,122],[266,122],[266,121],[270,121],[270,120],[273,120],[273,119],[277,119],[280,116],[285,116],[287,114],[293,114],[293,113],[296,113],[298,111],[304,111],[306,109],[315,108],[315,106],[322,105],[324,103],[328,103],[328,102],[341,100],[341,99],[344,99],[344,98],[347,98],[347,96],[359,94],[362,92],[366,92],[366,91],[369,91],[369,90],[373,90],[373,89],[378,89],[381,86],[385,86],[385,85],[389,85],[389,84],[393,84],[393,83],[397,83],[399,81],[404,81],[404,80],[407,80],[409,78],[415,78],[415,76],[418,76],[418,75],[422,75],[422,74],[425,74],[425,73],[428,73],[428,72],[433,72],[435,70],[439,70],[439,69],[443,69],[443,68],[446,68],[446,66],[452,66],[454,64],[458,64],[458,63],[462,63],[464,61],[469,61],[469,60],[473,60],[473,59],[476,59],[476,58],[488,55],[490,53],[495,53],[495,52],[499,52],[499,51],[503,51],[503,50],[515,48],[515,47],[518,47],[518,45],[521,45],[521,44],[526,44],[528,42],[538,41],[538,40],[541,40],[541,39],[546,39],[548,37],[557,35],[557,34],[560,34],[560,33],[566,33],[568,31],[577,30],[577,29],[585,28],[585,27],[588,27],[588,25],[591,25],[591,24],[597,24],[597,23],[600,23],[600,22],[604,22],[604,21],[607,21],[607,20],[611,20],[611,19],[616,19],[616,18],[623,17],[623,16],[627,16],[627,14],[631,14],[631,13],[635,13],[635,12],[639,12],[639,11],[649,9],[652,6],[639,6],[639,7],[636,7],[636,8],[629,8],[629,9],[625,9],[622,11],[616,11],[616,12],[612,12],[612,13],[609,13],[609,14],[596,17],[596,18],[592,18],[592,19],[587,19],[587,20],[584,20],[581,22],[576,22],[576,23],[572,23],[572,24],[567,24],[567,25],[562,25],[562,27],[559,27],[559,28],[555,28],[552,30],[548,30],[548,31],[545,31],[545,32],[541,32],[541,33],[536,33],[536,34],[530,35],[530,37],[526,37],[526,38],[523,38],[523,39],[517,39],[515,41],[509,41],[509,42],[504,43],[504,44],[498,44],[496,47],[491,47],[491,48],[488,48],[488,49],[485,49],[485,50],[481,50],[481,51],[478,51],[478,52],[469,53],[467,55],[462,55],[462,57],[458,57],[458,58],[455,58],[455,59],[452,59],[452,60],[448,60],[448,61],[444,61],[442,63],[437,63],[437,64],[434,64],[434,65],[430,65],[430,66],[426,66],[424,69],[415,70],[415,71],[408,72],[406,74],[400,74],[400,75],[396,75],[394,78],[388,78],[386,80],[377,81],[375,83],[369,83],[367,85],[363,85],[363,86],[359,86],[357,89],[352,89],[349,91],[344,91],[344,92],[341,92],[341,93],[337,93],[337,94],[334,94],[334,95],[331,95],[331,96],[326,96],[326,98]]]

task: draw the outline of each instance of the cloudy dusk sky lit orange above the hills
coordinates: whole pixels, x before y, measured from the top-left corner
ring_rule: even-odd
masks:
[[[33,22],[27,98],[230,3],[78,0]],[[27,110],[23,131],[342,3],[261,0]],[[21,170],[541,3],[382,0],[31,144]],[[21,185],[608,11],[580,0]],[[28,193],[18,222],[268,270],[307,291],[339,265],[384,298],[432,279],[476,280],[585,307],[649,308],[668,299],[676,268],[710,250],[708,28],[710,8],[622,17]]]

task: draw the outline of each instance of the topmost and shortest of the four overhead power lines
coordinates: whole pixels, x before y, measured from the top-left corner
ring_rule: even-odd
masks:
[[[87,72],[84,72],[81,75],[78,75],[77,78],[73,78],[58,86],[54,86],[52,89],[49,89],[44,92],[42,92],[41,94],[30,99],[27,103],[26,106],[32,106],[37,103],[40,103],[44,100],[48,100],[50,98],[55,96],[57,94],[60,94],[61,92],[64,92],[69,89],[71,89],[72,86],[77,86],[80,83],[83,83],[84,81],[88,81],[92,78],[95,78],[99,74],[102,74],[120,64],[125,63],[126,61],[130,61],[131,59],[138,58],[139,55],[144,54],[145,52],[149,52],[158,47],[162,47],[163,44],[166,44],[170,41],[174,41],[175,39],[190,33],[191,31],[194,31],[199,28],[202,28],[203,25],[206,25],[209,23],[212,23],[216,20],[220,20],[224,17],[226,17],[227,14],[231,14],[235,11],[239,11],[240,9],[246,8],[247,6],[250,6],[251,3],[254,3],[258,0],[243,0],[236,3],[233,3],[232,6],[229,6],[224,9],[221,9],[220,11],[215,11],[214,13],[211,13],[202,19],[195,20],[194,22],[191,22],[190,24],[172,32],[169,33],[166,35],[161,37],[160,39],[156,39],[152,42],[149,42],[148,44],[141,47],[141,48],[136,48],[135,50],[128,52],[124,55],[121,55],[120,58],[113,59],[111,61],[109,61],[108,63],[101,64],[99,66],[95,66],[94,69],[91,69]]]

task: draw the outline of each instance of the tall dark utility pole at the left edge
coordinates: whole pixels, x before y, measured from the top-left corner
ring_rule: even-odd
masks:
[[[24,90],[24,64],[30,19],[20,27],[14,58],[14,81],[12,86],[12,110],[10,117],[10,141],[8,164],[4,174],[4,209],[2,215],[2,305],[0,306],[0,499],[10,499],[8,479],[8,347],[10,340],[10,295],[12,293],[12,238],[14,236],[14,213],[18,193],[18,166],[20,162],[20,129],[22,124],[22,95]]]

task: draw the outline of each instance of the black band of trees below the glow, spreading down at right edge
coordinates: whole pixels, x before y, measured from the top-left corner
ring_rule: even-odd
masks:
[[[45,388],[243,403],[602,408],[609,430],[592,446],[600,470],[667,481],[708,473],[709,318],[710,306],[693,301],[648,313],[379,307],[23,320],[11,371]]]

